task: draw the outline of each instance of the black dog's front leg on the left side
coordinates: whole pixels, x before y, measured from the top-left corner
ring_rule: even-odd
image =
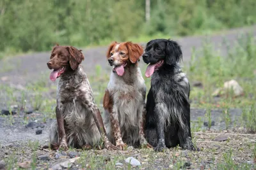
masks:
[[[157,134],[157,146],[155,148],[156,151],[162,152],[165,148],[165,138],[164,138],[164,126],[166,118],[164,117],[164,113],[166,113],[166,107],[163,106],[161,103],[157,103],[155,107],[156,117],[157,117],[157,124],[156,124],[156,134]]]

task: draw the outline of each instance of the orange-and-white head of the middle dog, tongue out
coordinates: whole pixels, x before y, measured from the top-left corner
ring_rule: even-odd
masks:
[[[113,42],[108,48],[108,62],[114,66],[113,72],[122,76],[127,64],[137,64],[143,54],[142,46],[132,42],[116,43]]]

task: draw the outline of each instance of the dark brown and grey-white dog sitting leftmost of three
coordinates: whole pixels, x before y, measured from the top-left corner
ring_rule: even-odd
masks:
[[[50,129],[51,148],[91,148],[104,139],[104,146],[115,149],[106,136],[100,111],[94,103],[90,83],[80,66],[84,55],[73,46],[54,46],[47,62],[53,69],[50,79],[60,77],[56,119]]]

